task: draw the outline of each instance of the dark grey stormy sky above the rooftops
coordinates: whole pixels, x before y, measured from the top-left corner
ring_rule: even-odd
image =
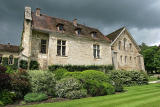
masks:
[[[0,0],[0,43],[20,43],[25,6],[70,21],[77,18],[104,34],[126,26],[139,44],[160,43],[160,0]]]

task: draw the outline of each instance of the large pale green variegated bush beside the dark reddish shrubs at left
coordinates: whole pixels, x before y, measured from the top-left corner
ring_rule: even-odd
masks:
[[[56,84],[53,73],[41,70],[29,71],[29,81],[32,92],[53,95]]]

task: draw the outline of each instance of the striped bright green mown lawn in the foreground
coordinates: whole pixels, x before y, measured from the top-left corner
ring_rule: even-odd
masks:
[[[126,92],[25,107],[160,107],[160,84],[125,88]]]

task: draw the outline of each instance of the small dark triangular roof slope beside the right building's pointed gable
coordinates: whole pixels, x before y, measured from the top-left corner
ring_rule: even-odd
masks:
[[[123,29],[124,27],[108,34],[107,37],[113,42],[117,38],[117,36],[122,32]]]

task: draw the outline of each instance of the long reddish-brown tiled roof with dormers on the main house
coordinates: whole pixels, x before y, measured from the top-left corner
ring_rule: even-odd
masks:
[[[51,16],[47,16],[44,14],[41,14],[40,16],[36,16],[34,12],[32,12],[32,28],[38,29],[42,31],[50,31],[50,32],[56,32],[57,31],[57,25],[63,24],[64,25],[64,33],[65,34],[71,34],[76,35],[75,29],[80,28],[81,29],[81,35],[85,38],[90,38],[93,40],[105,40],[107,42],[110,42],[109,38],[105,37],[98,29],[91,28],[82,24],[77,24],[77,26],[74,26],[71,21],[67,21],[60,18],[55,18]],[[97,37],[92,38],[91,32],[97,32]]]

